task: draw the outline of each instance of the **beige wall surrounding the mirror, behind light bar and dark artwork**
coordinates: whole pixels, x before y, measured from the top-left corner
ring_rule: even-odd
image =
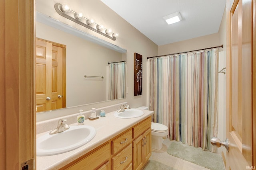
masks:
[[[65,0],[60,0],[58,2],[62,3]],[[77,27],[91,35],[99,37],[100,39],[104,39],[114,45],[122,47],[127,50],[126,60],[127,60],[127,87],[128,94],[126,94],[126,99],[123,100],[115,100],[111,102],[104,102],[98,104],[87,105],[82,108],[70,108],[70,109],[62,109],[61,111],[54,111],[54,113],[39,113],[37,114],[37,121],[50,119],[52,117],[59,117],[61,115],[68,115],[71,113],[78,113],[79,109],[90,110],[92,107],[104,107],[112,104],[117,104],[120,102],[128,102],[131,107],[138,106],[147,106],[148,105],[148,87],[147,87],[147,78],[148,78],[148,66],[147,59],[148,56],[157,55],[157,45],[153,43],[150,39],[148,39],[145,35],[140,33],[137,29],[135,29],[128,22],[123,20],[120,16],[118,16],[115,12],[113,12],[108,6],[102,3],[100,0],[72,0],[68,2],[72,9],[77,11],[82,11],[84,15],[88,16],[88,18],[94,19],[96,23],[103,24],[106,28],[111,27],[112,30],[116,33],[119,33],[119,37],[116,41],[112,41],[103,35],[100,35],[90,29],[83,28],[78,24],[72,23],[65,19],[64,17],[57,14],[54,10],[54,0],[47,0],[47,4],[45,0],[36,0],[36,10],[47,16],[51,16],[57,20],[62,22],[72,24],[72,26]],[[142,96],[134,96],[134,53],[139,53],[143,56],[143,79],[142,79]]]

